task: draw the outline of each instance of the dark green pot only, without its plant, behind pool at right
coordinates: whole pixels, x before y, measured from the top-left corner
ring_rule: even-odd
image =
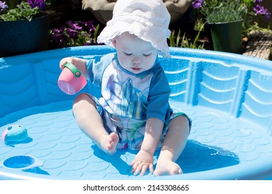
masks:
[[[215,51],[242,53],[243,20],[209,24]]]

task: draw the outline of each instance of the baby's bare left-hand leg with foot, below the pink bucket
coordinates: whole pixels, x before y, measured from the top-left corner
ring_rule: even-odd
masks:
[[[102,118],[96,110],[96,103],[87,95],[80,94],[73,103],[73,114],[78,127],[109,155],[116,152],[119,137],[115,132],[108,134]]]

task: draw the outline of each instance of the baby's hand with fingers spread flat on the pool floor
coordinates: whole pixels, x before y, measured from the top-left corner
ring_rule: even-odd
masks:
[[[145,175],[147,168],[149,168],[150,173],[153,173],[153,155],[140,150],[130,165],[132,165],[133,175],[138,175],[138,173],[140,173],[140,175],[143,176]]]

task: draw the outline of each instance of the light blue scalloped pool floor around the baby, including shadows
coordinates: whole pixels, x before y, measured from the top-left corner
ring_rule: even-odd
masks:
[[[188,143],[177,163],[183,173],[196,173],[271,157],[272,141],[262,127],[207,107],[182,107],[192,118]],[[44,164],[37,174],[57,179],[131,179],[135,151],[118,150],[109,156],[98,149],[78,128],[71,101],[51,103],[8,114],[1,118],[0,132],[8,125],[26,127],[28,139],[5,145],[0,142],[0,164],[8,157],[30,155]],[[159,152],[154,155],[154,164]],[[0,166],[0,170],[3,166]],[[12,172],[13,173],[13,172]],[[16,171],[14,171],[16,173]],[[153,177],[148,173],[148,177]]]

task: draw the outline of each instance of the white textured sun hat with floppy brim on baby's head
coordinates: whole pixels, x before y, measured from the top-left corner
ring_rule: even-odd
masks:
[[[128,32],[150,42],[161,55],[170,58],[169,24],[170,13],[162,0],[118,0],[112,19],[98,36],[98,43],[113,46],[114,37]]]

